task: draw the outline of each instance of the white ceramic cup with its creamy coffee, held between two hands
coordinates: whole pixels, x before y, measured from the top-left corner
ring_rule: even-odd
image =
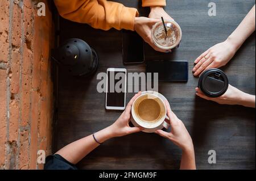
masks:
[[[147,129],[145,132],[154,132],[157,129],[169,127],[164,121],[167,118],[166,106],[158,92],[154,94],[142,92],[131,107],[131,115],[131,122],[134,126]]]

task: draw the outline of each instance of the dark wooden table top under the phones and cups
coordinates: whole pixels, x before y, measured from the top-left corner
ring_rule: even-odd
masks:
[[[137,7],[141,15],[149,9],[141,1],[118,1]],[[222,106],[195,96],[198,78],[191,71],[197,56],[224,41],[238,26],[255,1],[216,0],[217,16],[208,16],[210,1],[167,1],[166,11],[181,26],[183,40],[172,54],[145,48],[146,60],[189,62],[187,83],[160,82],[159,92],[184,122],[195,145],[197,169],[255,169],[255,109]],[[94,30],[86,24],[60,19],[60,44],[77,37],[96,49],[100,57],[97,73],[107,68],[144,72],[145,65],[122,64],[121,31]],[[230,63],[221,68],[230,84],[255,95],[255,33],[246,40]],[[91,78],[73,78],[59,71],[58,104],[53,151],[114,123],[119,111],[105,110],[105,94],[96,90],[97,73]],[[129,101],[133,94],[127,94]],[[215,150],[217,163],[208,163],[208,151]],[[156,134],[136,133],[113,138],[93,150],[78,164],[80,169],[178,169],[181,150]]]

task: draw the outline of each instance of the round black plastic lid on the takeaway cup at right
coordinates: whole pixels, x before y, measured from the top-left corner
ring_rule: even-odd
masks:
[[[217,98],[228,90],[229,81],[222,70],[209,69],[201,74],[198,86],[205,95]]]

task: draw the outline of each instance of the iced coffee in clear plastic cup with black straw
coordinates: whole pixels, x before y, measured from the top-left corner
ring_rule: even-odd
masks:
[[[160,49],[171,50],[181,41],[181,28],[174,20],[164,20],[167,33],[164,29],[163,22],[159,21],[154,24],[151,32],[153,43]]]

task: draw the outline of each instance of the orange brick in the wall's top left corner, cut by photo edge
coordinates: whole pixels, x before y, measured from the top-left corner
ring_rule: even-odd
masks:
[[[0,1],[0,62],[7,62],[9,54],[9,1]]]

